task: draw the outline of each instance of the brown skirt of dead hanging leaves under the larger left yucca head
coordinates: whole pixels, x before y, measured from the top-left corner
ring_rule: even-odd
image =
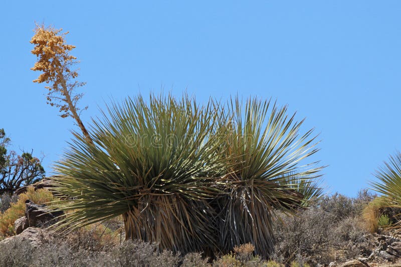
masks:
[[[205,201],[168,194],[144,196],[139,202],[123,214],[125,239],[155,242],[159,250],[181,253],[216,244],[213,225],[207,223],[213,214]]]

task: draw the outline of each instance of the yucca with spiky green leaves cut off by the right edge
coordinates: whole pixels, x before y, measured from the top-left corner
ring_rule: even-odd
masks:
[[[389,161],[380,166],[374,176],[378,181],[371,182],[372,189],[381,196],[374,203],[382,207],[401,208],[401,153],[390,155]],[[401,223],[395,223],[395,228],[401,230]]]

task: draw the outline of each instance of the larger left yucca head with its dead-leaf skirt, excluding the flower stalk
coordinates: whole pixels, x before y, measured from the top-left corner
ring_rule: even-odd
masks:
[[[71,210],[58,227],[80,227],[120,214],[126,239],[159,249],[216,246],[210,199],[227,172],[224,138],[210,138],[218,113],[184,95],[128,98],[93,120],[93,143],[78,134],[55,165],[54,207]],[[223,148],[224,149],[224,148]]]

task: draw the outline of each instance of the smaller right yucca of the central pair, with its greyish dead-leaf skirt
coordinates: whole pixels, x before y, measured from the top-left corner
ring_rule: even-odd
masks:
[[[258,254],[273,251],[272,223],[277,209],[291,212],[305,205],[321,189],[316,178],[321,167],[305,163],[318,149],[309,130],[300,134],[302,121],[287,115],[287,107],[270,101],[232,98],[220,113],[227,159],[224,194],[215,201],[219,214],[219,242],[225,251],[251,242]]]

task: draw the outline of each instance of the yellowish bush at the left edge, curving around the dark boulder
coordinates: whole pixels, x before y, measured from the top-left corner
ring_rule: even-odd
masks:
[[[36,204],[53,201],[54,197],[47,189],[35,190],[33,187],[28,187],[27,192],[22,193],[18,197],[18,201],[12,203],[10,208],[0,215],[0,234],[4,236],[14,235],[14,222],[16,219],[25,215],[25,200],[30,199]]]

